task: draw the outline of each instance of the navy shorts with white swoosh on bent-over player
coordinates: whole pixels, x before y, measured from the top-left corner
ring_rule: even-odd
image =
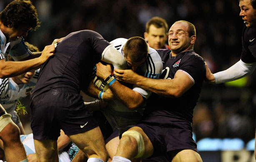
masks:
[[[75,135],[98,126],[86,109],[82,96],[65,89],[52,89],[32,99],[33,137],[36,140],[57,140],[60,129]]]

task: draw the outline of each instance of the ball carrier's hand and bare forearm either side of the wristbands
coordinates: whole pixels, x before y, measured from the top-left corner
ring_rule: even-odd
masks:
[[[111,75],[110,65],[105,66],[99,62],[98,64],[96,64],[96,67],[96,75],[101,79],[106,80],[108,76]],[[130,110],[135,110],[136,108],[139,108],[143,103],[143,97],[140,93],[124,86],[119,81],[114,81],[112,84],[108,84],[110,85],[109,88],[114,93],[115,97],[118,98],[119,101],[124,103],[125,106]]]

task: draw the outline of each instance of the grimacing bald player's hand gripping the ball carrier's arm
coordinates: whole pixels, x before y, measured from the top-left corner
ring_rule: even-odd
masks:
[[[139,75],[133,70],[120,70],[114,69],[115,79],[126,83],[135,84],[138,80]]]

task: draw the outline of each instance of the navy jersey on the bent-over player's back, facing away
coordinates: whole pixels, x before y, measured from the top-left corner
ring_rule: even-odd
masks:
[[[80,92],[90,81],[93,66],[110,45],[97,32],[82,30],[68,34],[55,48],[55,54],[40,69],[32,98],[53,88]]]

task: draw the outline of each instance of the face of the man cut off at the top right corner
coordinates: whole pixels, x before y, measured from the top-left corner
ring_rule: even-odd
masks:
[[[256,27],[256,10],[253,9],[250,0],[240,0],[239,7],[241,9],[240,16],[246,27]]]

